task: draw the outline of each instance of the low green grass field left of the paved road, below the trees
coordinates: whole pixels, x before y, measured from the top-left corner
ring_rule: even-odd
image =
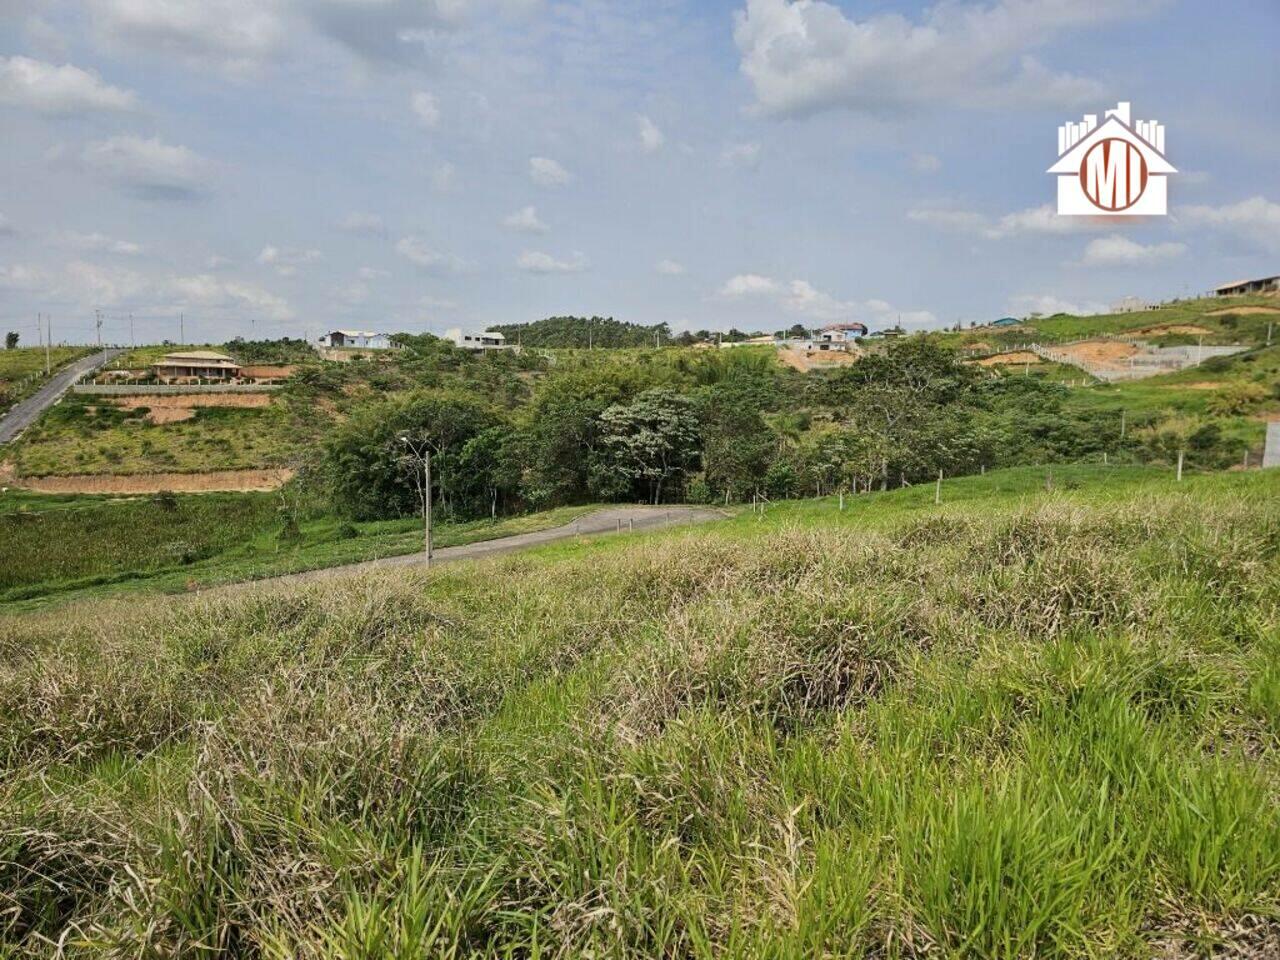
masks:
[[[595,507],[438,522],[438,548],[545,530]],[[9,611],[119,593],[182,593],[422,549],[421,520],[348,524],[303,513],[282,538],[271,493],[157,497],[0,494],[0,604]]]

